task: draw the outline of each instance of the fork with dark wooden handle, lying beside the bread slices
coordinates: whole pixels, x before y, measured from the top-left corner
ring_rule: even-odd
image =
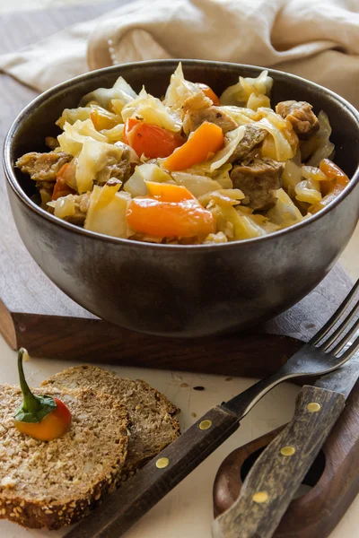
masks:
[[[101,508],[95,509],[83,524],[66,534],[67,538],[75,538],[80,535],[79,532],[82,538],[122,536],[197,465],[212,454],[215,448],[222,445],[239,428],[241,419],[272,388],[294,377],[323,376],[343,366],[359,349],[359,336],[353,343],[349,343],[359,326],[359,318],[351,325],[359,310],[359,299],[350,308],[358,289],[359,281],[355,283],[352,291],[327,324],[275,374],[258,381],[240,395],[234,396],[232,400],[216,405],[206,412],[180,435],[180,438],[173,441],[169,447],[162,450],[162,453],[146,464],[144,469],[136,473],[136,476],[110,495],[101,504]],[[333,328],[334,331],[330,334]],[[345,346],[346,349],[343,351]],[[304,386],[302,389],[303,398],[308,398],[309,403],[313,402],[314,389],[312,386]],[[325,428],[329,431],[345,406],[345,396],[331,391],[323,392],[330,395],[325,395],[323,400],[318,401],[324,411],[320,413],[320,420],[325,422]],[[313,442],[317,443],[318,440],[313,438]]]

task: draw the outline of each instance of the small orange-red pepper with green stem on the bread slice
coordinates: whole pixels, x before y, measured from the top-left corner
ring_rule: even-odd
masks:
[[[14,416],[17,430],[41,441],[50,441],[64,435],[71,425],[71,412],[66,404],[49,395],[36,396],[26,383],[22,369],[22,358],[27,353],[21,348],[18,353],[22,406]]]

